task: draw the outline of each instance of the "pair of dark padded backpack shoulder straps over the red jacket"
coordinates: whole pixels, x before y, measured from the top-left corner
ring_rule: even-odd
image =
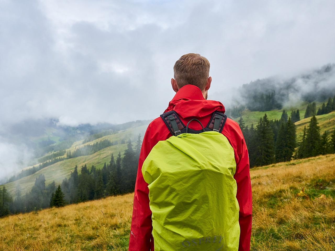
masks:
[[[180,135],[182,133],[186,133],[186,126],[179,118],[179,115],[175,111],[168,111],[160,115],[163,119],[164,123],[166,124],[167,128],[169,129],[170,133],[173,136]],[[207,127],[204,128],[204,131],[216,131],[221,133],[226,122],[227,116],[219,111],[215,111],[212,114],[211,119],[209,120]],[[203,130],[192,130],[188,129],[190,133],[198,134],[202,133]]]

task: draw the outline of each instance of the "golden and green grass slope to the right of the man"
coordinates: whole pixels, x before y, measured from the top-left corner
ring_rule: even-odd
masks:
[[[334,159],[319,156],[251,170],[252,250],[335,250]],[[296,196],[303,187],[310,200]]]

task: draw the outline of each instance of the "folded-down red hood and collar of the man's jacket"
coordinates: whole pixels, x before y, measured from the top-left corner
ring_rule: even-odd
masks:
[[[214,111],[225,112],[221,102],[204,99],[200,88],[195,85],[184,85],[179,89],[164,112],[172,110],[182,118],[204,117]]]

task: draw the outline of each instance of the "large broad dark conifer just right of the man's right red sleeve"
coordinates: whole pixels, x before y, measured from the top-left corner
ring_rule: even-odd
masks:
[[[274,161],[274,139],[270,121],[265,114],[257,124],[256,165],[264,166]]]

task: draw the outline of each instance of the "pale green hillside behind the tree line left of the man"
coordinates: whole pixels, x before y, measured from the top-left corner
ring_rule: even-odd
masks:
[[[56,184],[62,183],[64,178],[68,178],[70,176],[71,171],[73,171],[76,165],[78,167],[81,167],[86,164],[88,168],[94,165],[97,169],[100,169],[104,166],[105,162],[108,163],[110,161],[112,154],[114,154],[114,156],[117,156],[119,152],[121,152],[121,155],[123,155],[124,151],[127,148],[127,144],[120,144],[121,141],[124,141],[124,142],[127,142],[128,140],[135,141],[139,134],[141,134],[142,139],[143,139],[146,128],[147,128],[147,125],[144,125],[144,126],[141,125],[139,127],[132,127],[132,128],[120,131],[117,134],[107,135],[99,139],[87,142],[85,144],[82,144],[83,140],[76,141],[72,144],[70,148],[66,149],[66,152],[68,151],[73,152],[75,149],[78,149],[80,147],[87,146],[87,145],[93,145],[97,142],[101,142],[104,140],[109,140],[111,142],[117,142],[118,145],[104,148],[91,155],[85,155],[85,156],[80,156],[76,158],[65,159],[63,161],[59,161],[53,165],[47,166],[37,171],[36,173],[32,175],[29,175],[21,179],[18,179],[16,181],[1,185],[0,187],[5,186],[6,189],[12,195],[14,195],[17,185],[20,185],[22,193],[24,194],[25,192],[28,192],[31,190],[32,186],[35,183],[36,178],[40,174],[43,174],[45,176],[46,185],[48,185],[53,181],[55,181]],[[47,156],[48,154],[50,153],[47,153],[44,156]],[[64,155],[64,157],[66,157],[66,154]],[[31,167],[32,166],[29,166],[24,169],[28,169]]]

